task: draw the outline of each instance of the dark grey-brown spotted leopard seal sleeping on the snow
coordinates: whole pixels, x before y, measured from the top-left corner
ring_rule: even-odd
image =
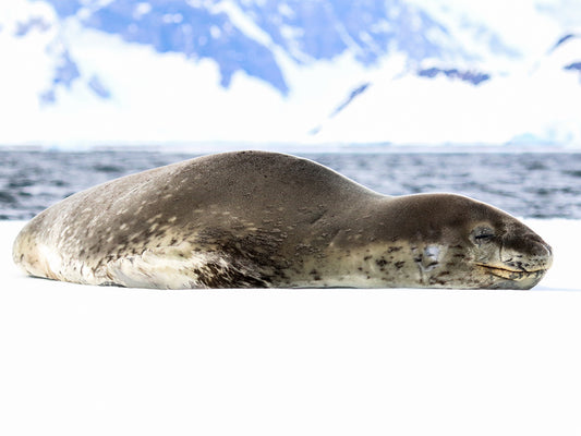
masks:
[[[535,286],[552,250],[455,194],[386,196],[307,159],[199,157],[74,194],[33,218],[32,276],[133,288]]]

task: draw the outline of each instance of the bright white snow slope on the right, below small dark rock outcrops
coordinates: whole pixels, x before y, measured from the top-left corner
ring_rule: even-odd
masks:
[[[559,62],[479,86],[438,75],[377,81],[317,131],[319,142],[568,144],[581,138],[581,86]]]

